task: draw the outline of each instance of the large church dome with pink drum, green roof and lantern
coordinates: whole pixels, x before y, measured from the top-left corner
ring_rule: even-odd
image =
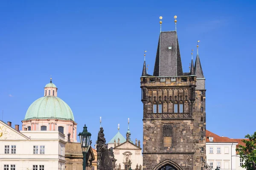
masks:
[[[69,105],[57,96],[51,81],[44,87],[44,96],[33,102],[23,119],[23,130],[58,130],[76,142],[76,122]],[[68,139],[67,139],[68,140]]]

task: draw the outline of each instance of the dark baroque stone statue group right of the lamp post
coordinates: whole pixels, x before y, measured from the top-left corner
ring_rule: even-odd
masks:
[[[116,165],[113,147],[108,150],[103,127],[100,127],[97,143],[97,170],[113,170]]]

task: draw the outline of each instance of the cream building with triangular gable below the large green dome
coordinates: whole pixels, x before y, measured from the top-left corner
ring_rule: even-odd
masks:
[[[64,170],[65,136],[58,131],[17,131],[0,121],[0,170]]]

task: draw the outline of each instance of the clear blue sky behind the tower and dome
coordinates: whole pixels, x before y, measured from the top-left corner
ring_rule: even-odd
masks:
[[[255,1],[1,1],[0,110],[20,124],[29,105],[44,95],[50,75],[58,96],[92,133],[99,117],[107,142],[143,140],[140,76],[143,51],[152,74],[159,17],[163,31],[177,31],[183,71],[200,42],[206,77],[207,130],[243,138],[255,131]],[[2,115],[0,116],[2,118]]]

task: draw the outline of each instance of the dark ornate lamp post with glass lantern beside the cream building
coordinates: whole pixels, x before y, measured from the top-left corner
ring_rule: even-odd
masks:
[[[80,143],[81,143],[81,148],[82,148],[82,153],[83,153],[83,170],[86,169],[86,154],[87,154],[87,149],[90,144],[90,136],[92,134],[87,131],[86,125],[84,125],[84,130],[79,133],[79,138],[80,138]]]

